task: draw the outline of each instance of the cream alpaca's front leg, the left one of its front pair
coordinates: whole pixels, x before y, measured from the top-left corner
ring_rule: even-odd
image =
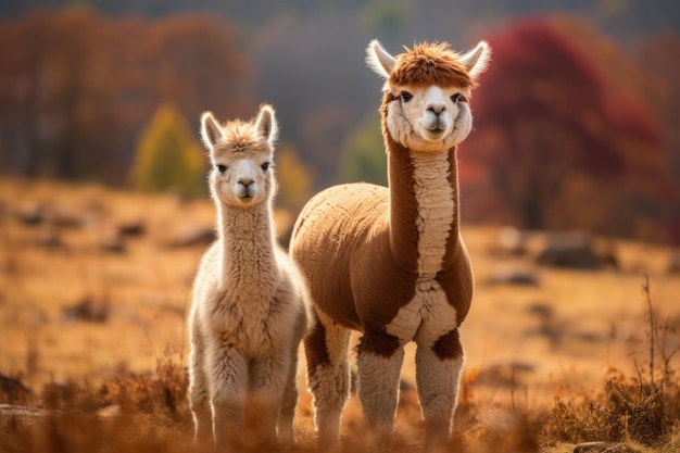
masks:
[[[211,354],[210,365],[215,451],[238,451],[243,429],[248,364],[236,349],[221,345]]]

